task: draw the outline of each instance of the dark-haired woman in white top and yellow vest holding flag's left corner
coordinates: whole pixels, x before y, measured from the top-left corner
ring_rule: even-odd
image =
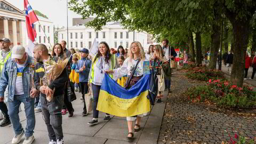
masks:
[[[98,124],[99,110],[97,110],[100,87],[104,78],[105,70],[112,70],[116,66],[115,54],[110,53],[109,46],[106,42],[100,42],[98,53],[93,57],[92,66],[89,74],[89,82],[92,84],[93,93],[93,119],[88,124]],[[113,75],[110,75],[113,77]],[[110,115],[106,114],[103,121],[110,120]]]

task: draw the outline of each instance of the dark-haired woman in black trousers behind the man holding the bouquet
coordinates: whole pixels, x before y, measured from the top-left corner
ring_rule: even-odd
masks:
[[[57,56],[57,57],[60,57],[61,59],[66,57],[66,54],[64,53],[61,44],[57,43],[53,46],[52,56]],[[68,117],[72,117],[74,114],[74,109],[73,109],[71,101],[68,100],[67,85],[68,85],[68,83],[66,84],[66,89],[65,89],[65,94],[64,94],[64,104],[63,104],[61,113],[62,113],[62,115],[66,115],[66,113],[67,113],[66,109],[68,109],[68,112],[69,112]]]

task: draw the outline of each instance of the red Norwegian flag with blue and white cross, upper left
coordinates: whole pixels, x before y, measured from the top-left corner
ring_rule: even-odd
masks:
[[[26,11],[26,25],[28,31],[28,38],[34,42],[36,38],[36,30],[34,28],[34,23],[38,21],[35,12],[33,11],[32,7],[28,3],[28,0],[24,0],[24,8]]]

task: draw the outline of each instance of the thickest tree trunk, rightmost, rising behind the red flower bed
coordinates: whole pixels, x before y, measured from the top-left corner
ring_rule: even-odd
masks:
[[[252,17],[236,19],[237,15],[233,13],[229,20],[233,26],[233,68],[231,71],[230,82],[239,87],[243,86],[245,54],[249,38],[250,20]]]

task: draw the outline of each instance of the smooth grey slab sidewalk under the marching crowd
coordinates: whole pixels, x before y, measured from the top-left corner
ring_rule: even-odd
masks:
[[[83,102],[80,100],[81,94],[77,93],[77,100],[73,101],[73,107],[75,109],[74,116],[69,118],[68,114],[62,117],[62,126],[64,133],[65,143],[157,143],[160,127],[162,124],[166,95],[162,100],[162,103],[156,103],[152,108],[149,116],[142,118],[141,126],[142,130],[138,133],[134,133],[134,140],[126,140],[128,133],[127,122],[125,117],[111,116],[112,119],[109,122],[103,122],[105,114],[99,114],[99,124],[91,126],[87,122],[91,121],[92,113],[88,116],[81,116],[83,110]],[[20,112],[20,121],[23,128],[26,127],[25,111]],[[12,125],[6,127],[0,127],[0,143],[11,143],[13,138]],[[36,113],[36,126],[35,126],[35,141],[36,143],[49,143],[49,137],[46,129],[46,125],[43,121],[42,114]],[[23,136],[22,141],[25,139]]]

